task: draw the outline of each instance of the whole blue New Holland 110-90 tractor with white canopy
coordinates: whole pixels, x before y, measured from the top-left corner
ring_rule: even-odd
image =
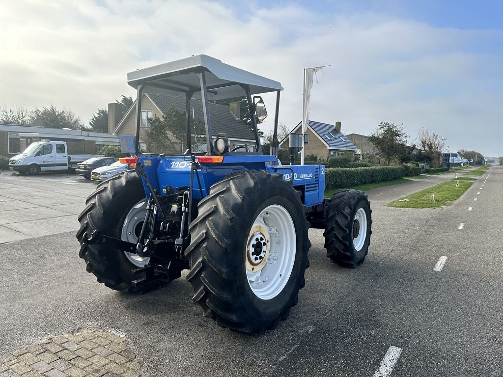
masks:
[[[282,165],[278,158],[277,81],[197,55],[135,70],[134,170],[100,183],[78,217],[79,256],[98,282],[128,293],[161,287],[188,269],[193,301],[203,315],[233,331],[260,334],[287,318],[304,287],[309,227],[324,229],[327,256],[355,267],[367,255],[367,196],[342,190],[323,198],[324,165]],[[186,100],[187,151],[138,149],[143,93]],[[267,111],[260,93],[276,92],[271,154],[257,123]],[[212,133],[208,102],[245,96],[255,134],[253,151],[229,147]],[[252,97],[255,96],[255,97]],[[202,102],[207,152],[193,152],[190,100]]]

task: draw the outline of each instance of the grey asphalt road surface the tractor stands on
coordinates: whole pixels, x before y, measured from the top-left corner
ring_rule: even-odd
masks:
[[[0,244],[0,354],[92,325],[124,331],[142,375],[382,375],[392,346],[392,376],[500,377],[503,169],[448,208],[384,206],[452,175],[370,191],[371,247],[356,269],[330,263],[322,231],[310,230],[299,304],[262,336],[202,317],[184,278],[144,296],[107,289],[86,272],[73,231]]]

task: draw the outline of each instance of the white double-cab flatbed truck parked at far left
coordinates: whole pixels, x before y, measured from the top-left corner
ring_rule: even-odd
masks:
[[[21,174],[38,174],[41,171],[75,169],[77,164],[97,154],[68,154],[64,141],[41,140],[31,143],[22,153],[9,160],[9,169]]]

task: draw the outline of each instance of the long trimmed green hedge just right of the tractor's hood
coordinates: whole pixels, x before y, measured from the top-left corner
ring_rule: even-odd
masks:
[[[339,189],[357,184],[398,179],[406,174],[403,166],[370,166],[358,168],[333,167],[326,169],[326,189]]]

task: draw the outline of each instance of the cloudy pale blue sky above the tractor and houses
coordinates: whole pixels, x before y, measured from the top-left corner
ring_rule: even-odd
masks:
[[[358,3],[358,5],[355,5]],[[503,2],[0,2],[0,105],[68,108],[88,124],[126,74],[207,54],[282,83],[280,122],[301,119],[303,68],[318,72],[310,119],[368,135],[384,120],[503,155]],[[274,98],[264,96],[270,114]],[[273,118],[271,116],[270,118]],[[268,119],[261,129],[269,131]]]

